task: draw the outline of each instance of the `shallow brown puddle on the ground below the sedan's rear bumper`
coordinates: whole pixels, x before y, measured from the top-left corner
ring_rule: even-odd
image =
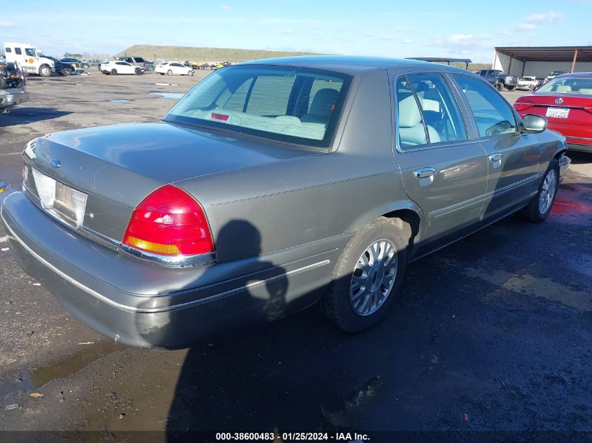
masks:
[[[80,349],[76,353],[64,360],[47,366],[23,370],[18,377],[11,377],[6,384],[0,386],[0,398],[19,391],[39,389],[50,381],[76,374],[99,358],[125,349],[125,346],[109,340],[101,340],[94,344],[78,344],[78,347]]]

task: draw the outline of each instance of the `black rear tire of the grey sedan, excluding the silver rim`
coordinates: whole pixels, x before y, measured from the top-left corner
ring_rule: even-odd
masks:
[[[385,316],[389,307],[392,306],[399,292],[407,265],[406,246],[408,239],[403,233],[401,223],[399,219],[377,218],[359,230],[343,248],[335,269],[333,269],[329,290],[319,301],[319,307],[323,314],[333,323],[336,323],[341,330],[359,332],[371,328]],[[376,311],[369,314],[359,314],[354,309],[354,302],[350,300],[350,286],[352,285],[354,273],[357,272],[355,267],[358,261],[362,259],[362,256],[366,254],[366,251],[375,242],[381,240],[387,241],[394,248],[393,257],[397,260],[396,269],[391,277],[394,282],[390,292],[387,293],[382,304],[378,305]],[[369,255],[366,255],[366,257],[369,257]],[[367,275],[366,281],[370,281],[371,272],[368,272]],[[378,284],[382,284],[383,281],[383,277],[381,277]],[[374,279],[374,283],[376,282],[376,279]],[[380,289],[381,286],[378,286],[378,288]],[[362,299],[362,296],[360,296],[360,299]],[[360,301],[359,304],[363,304],[363,302]]]

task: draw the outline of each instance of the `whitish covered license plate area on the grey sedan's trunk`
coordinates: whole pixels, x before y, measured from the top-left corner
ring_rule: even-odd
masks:
[[[33,169],[33,180],[41,206],[51,215],[73,227],[82,225],[87,195]]]

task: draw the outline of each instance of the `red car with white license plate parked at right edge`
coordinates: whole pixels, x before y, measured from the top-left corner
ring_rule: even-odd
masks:
[[[592,72],[566,73],[552,78],[532,94],[520,97],[514,108],[544,115],[567,139],[567,148],[592,153]]]

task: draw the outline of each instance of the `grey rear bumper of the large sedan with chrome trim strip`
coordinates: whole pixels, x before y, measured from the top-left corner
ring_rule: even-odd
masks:
[[[303,250],[171,269],[73,233],[22,192],[4,199],[0,218],[15,260],[64,309],[116,342],[146,349],[188,347],[304,309],[329,283],[337,254],[325,241],[308,245],[310,255],[300,259]]]

